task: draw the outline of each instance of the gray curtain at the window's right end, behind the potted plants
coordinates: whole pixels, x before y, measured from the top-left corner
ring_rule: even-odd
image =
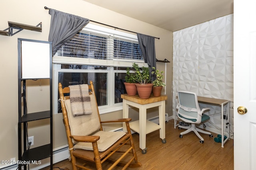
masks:
[[[156,51],[155,51],[155,37],[137,33],[140,49],[145,63],[148,63],[151,80],[154,80],[155,75],[151,75],[152,68],[156,68]]]

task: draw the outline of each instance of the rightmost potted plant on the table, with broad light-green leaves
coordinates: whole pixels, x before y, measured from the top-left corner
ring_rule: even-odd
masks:
[[[152,84],[153,84],[152,92],[153,92],[154,96],[160,96],[162,88],[164,86],[166,86],[166,84],[163,82],[164,76],[162,75],[164,73],[164,71],[156,70],[155,67],[152,67],[152,69],[154,71],[152,71],[151,74],[155,74],[156,75],[156,80],[154,80],[152,82]]]

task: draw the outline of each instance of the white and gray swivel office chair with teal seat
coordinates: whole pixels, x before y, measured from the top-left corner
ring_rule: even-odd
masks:
[[[213,137],[210,132],[203,131],[202,129],[198,129],[196,127],[196,124],[200,124],[210,119],[208,115],[204,115],[204,111],[210,108],[203,108],[201,110],[198,104],[197,95],[193,92],[178,91],[178,100],[178,117],[186,123],[191,123],[190,126],[178,126],[179,129],[187,129],[186,131],[180,133],[180,138],[182,138],[182,135],[191,131],[194,131],[194,133],[196,133],[196,135],[200,138],[200,143],[204,143],[204,138],[202,138],[198,132],[205,133],[210,137]]]

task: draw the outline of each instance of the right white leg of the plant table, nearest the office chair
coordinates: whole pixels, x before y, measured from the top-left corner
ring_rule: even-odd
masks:
[[[160,125],[160,138],[165,141],[165,101],[162,101],[161,106],[158,110],[159,114],[159,125]]]

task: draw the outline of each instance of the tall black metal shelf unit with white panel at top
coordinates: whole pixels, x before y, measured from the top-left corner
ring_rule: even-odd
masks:
[[[40,45],[44,45],[44,47],[47,47],[49,49],[48,52],[46,53],[48,56],[48,59],[46,59],[46,69],[49,69],[48,76],[43,77],[43,76],[38,76],[37,77],[29,77],[25,71],[24,65],[28,66],[27,63],[25,63],[26,58],[25,55],[29,55],[27,52],[23,51],[28,51],[28,47],[24,48],[22,51],[22,44],[26,44],[28,46],[33,47],[40,47]],[[36,46],[33,46],[35,44]],[[25,50],[26,49],[26,50]],[[42,48],[43,50],[44,48]],[[31,49],[31,53],[34,53],[34,49]],[[35,57],[34,54],[32,54],[33,57]],[[42,58],[42,56],[40,56]],[[33,59],[32,59],[33,60]],[[37,60],[36,57],[34,60]],[[33,61],[29,60],[32,64],[34,64]],[[23,70],[22,70],[23,69]],[[40,72],[40,68],[35,68],[39,70],[33,70],[33,67],[31,69],[26,70],[26,72]],[[23,76],[24,74],[24,76]],[[47,74],[47,73],[46,73]],[[35,75],[35,74],[34,74]],[[25,78],[24,78],[25,77]],[[35,80],[35,79],[47,79],[49,80],[49,92],[50,92],[50,99],[48,102],[50,102],[50,108],[49,110],[46,111],[39,111],[35,113],[27,113],[27,104],[29,102],[26,101],[26,82],[27,80]],[[23,91],[22,91],[23,90]],[[22,111],[23,110],[23,111]],[[28,149],[27,147],[27,132],[28,132],[28,124],[27,122],[29,121],[38,121],[41,119],[50,119],[50,143],[46,145],[42,145],[39,147],[35,147],[32,149]],[[52,170],[52,165],[53,165],[53,158],[52,158],[52,43],[48,41],[38,41],[38,40],[30,40],[30,39],[19,39],[18,38],[18,160],[23,161],[23,162],[30,162],[30,164],[45,158],[50,158],[50,169]],[[23,130],[23,131],[22,131]],[[18,169],[21,170],[22,167],[24,170],[27,169],[26,164],[18,164]]]

